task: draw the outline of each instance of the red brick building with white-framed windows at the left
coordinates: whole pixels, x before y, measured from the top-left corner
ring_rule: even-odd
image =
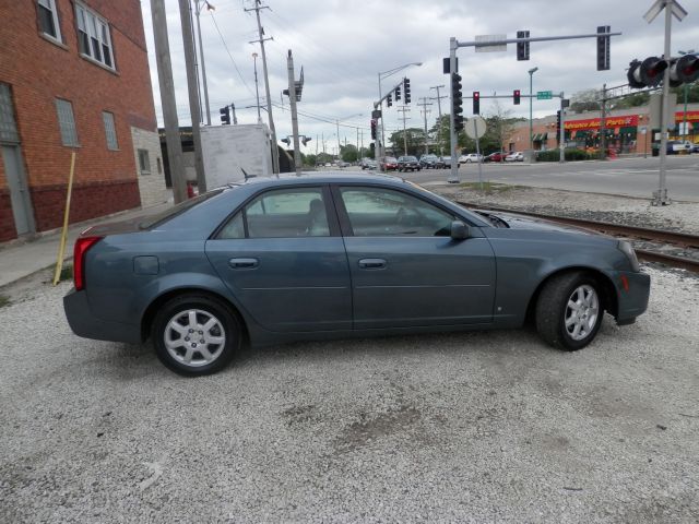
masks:
[[[0,2],[0,241],[168,198],[139,0]]]

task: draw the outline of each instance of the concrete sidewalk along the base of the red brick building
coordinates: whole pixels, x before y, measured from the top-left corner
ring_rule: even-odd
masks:
[[[138,207],[71,225],[68,229],[64,260],[71,260],[73,258],[75,238],[87,227],[107,222],[149,216],[170,206],[173,206],[173,202],[168,201],[149,207]],[[33,240],[11,240],[0,243],[0,288],[37,271],[54,266],[58,258],[60,240],[61,229],[59,228],[52,231],[42,233],[38,238]]]

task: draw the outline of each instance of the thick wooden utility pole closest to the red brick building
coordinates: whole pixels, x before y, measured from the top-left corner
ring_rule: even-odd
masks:
[[[170,62],[170,45],[167,39],[167,19],[165,0],[151,1],[153,19],[153,36],[155,38],[155,60],[157,79],[161,87],[163,121],[165,123],[165,141],[167,143],[167,160],[173,182],[173,196],[178,204],[187,200],[185,183],[185,163],[182,162],[182,141],[179,136],[177,103],[175,100],[175,83],[173,82],[173,64]]]

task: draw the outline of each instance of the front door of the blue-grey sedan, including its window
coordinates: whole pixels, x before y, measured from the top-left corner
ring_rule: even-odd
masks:
[[[488,240],[450,237],[454,215],[414,193],[339,186],[354,327],[488,323],[496,269]]]

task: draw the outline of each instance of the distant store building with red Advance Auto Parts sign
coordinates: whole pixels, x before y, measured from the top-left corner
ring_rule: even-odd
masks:
[[[687,112],[683,105],[675,108],[675,128],[671,131],[671,139],[687,139],[699,142],[699,104],[688,104]],[[566,116],[564,129],[566,131],[566,146],[594,150],[600,147],[601,114],[589,111],[569,114]],[[684,122],[687,129],[684,130]],[[632,107],[611,111],[605,118],[606,143],[620,154],[651,154],[652,143],[657,139],[650,128],[649,107]],[[503,144],[506,151],[529,150],[529,120],[518,122],[509,140]],[[534,150],[555,150],[558,147],[556,131],[556,115],[536,118],[532,122],[532,139]]]

